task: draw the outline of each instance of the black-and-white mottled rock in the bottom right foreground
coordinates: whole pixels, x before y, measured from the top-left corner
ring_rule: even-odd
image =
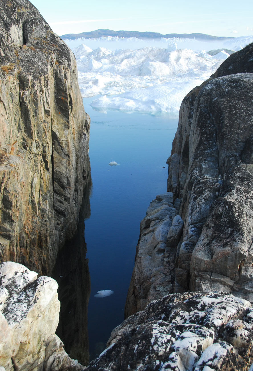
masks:
[[[87,370],[246,371],[253,361],[253,309],[226,293],[177,293],[116,327]]]

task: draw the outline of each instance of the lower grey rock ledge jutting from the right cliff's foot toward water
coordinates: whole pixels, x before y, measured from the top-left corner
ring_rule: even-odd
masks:
[[[141,221],[135,267],[126,299],[126,317],[143,310],[152,300],[161,299],[172,292],[170,266],[165,250],[175,212],[173,194],[160,194],[151,201],[147,215]]]

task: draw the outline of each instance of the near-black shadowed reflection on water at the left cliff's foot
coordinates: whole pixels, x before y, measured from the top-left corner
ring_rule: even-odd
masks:
[[[91,293],[86,243],[85,219],[89,218],[91,178],[87,182],[79,223],[75,236],[60,250],[53,278],[59,285],[60,318],[56,334],[63,341],[66,352],[83,365],[89,363],[89,339],[87,329],[88,302]]]

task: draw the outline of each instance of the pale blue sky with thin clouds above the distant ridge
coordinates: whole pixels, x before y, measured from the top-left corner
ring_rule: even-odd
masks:
[[[58,35],[97,29],[253,35],[252,0],[32,0]]]

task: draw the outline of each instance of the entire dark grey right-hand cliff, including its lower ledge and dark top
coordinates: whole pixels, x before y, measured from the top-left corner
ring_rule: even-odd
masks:
[[[253,44],[184,98],[170,201],[158,196],[141,222],[126,317],[163,291],[221,290],[253,302],[252,100]]]

